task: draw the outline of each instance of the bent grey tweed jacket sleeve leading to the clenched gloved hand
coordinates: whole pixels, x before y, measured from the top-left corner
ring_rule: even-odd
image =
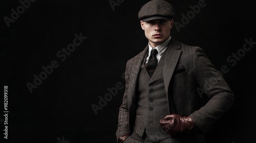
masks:
[[[209,101],[199,110],[190,114],[190,117],[205,134],[231,107],[234,97],[222,75],[211,64],[200,47],[195,47],[193,66],[199,88],[206,93]]]

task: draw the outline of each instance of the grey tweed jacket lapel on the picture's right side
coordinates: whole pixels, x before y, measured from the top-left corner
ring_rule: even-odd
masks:
[[[168,87],[170,80],[172,79],[174,69],[178,63],[180,54],[181,54],[181,47],[178,41],[176,41],[174,38],[172,38],[169,42],[169,45],[167,47],[165,53],[165,62],[163,67],[163,77],[164,77],[164,87],[166,95],[168,96]]]

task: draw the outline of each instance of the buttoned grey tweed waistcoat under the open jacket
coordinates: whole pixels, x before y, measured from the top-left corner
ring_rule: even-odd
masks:
[[[163,140],[169,137],[166,131],[159,125],[159,121],[168,113],[167,96],[163,82],[163,55],[152,78],[148,75],[145,65],[141,65],[138,84],[138,106],[134,132],[140,136],[143,133],[153,141]],[[145,60],[144,62],[145,63]]]

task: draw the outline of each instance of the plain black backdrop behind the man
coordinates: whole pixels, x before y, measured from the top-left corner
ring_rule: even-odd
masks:
[[[115,0],[113,0],[116,2]],[[4,86],[8,86],[8,139],[4,139],[4,116],[0,116],[2,142],[116,142],[118,110],[124,88],[97,115],[92,104],[110,93],[116,83],[124,85],[126,61],[147,44],[137,14],[148,1],[120,1],[114,11],[106,1],[31,2],[28,9],[7,26],[19,1],[0,2],[1,114]],[[175,21],[199,1],[167,1],[176,12]],[[207,4],[178,32],[180,42],[202,47],[221,70],[235,101],[205,135],[206,142],[255,142],[255,46],[232,66],[227,57],[243,48],[244,39],[255,37],[253,1],[205,1]],[[87,37],[64,61],[56,56],[73,43],[74,34]],[[53,60],[59,64],[30,93],[27,83]],[[181,89],[182,90],[182,89]],[[65,141],[66,140],[66,141]]]

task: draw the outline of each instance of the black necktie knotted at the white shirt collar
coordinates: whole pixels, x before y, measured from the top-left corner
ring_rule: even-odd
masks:
[[[150,58],[148,58],[148,61],[146,63],[147,73],[148,75],[150,75],[150,77],[152,77],[154,71],[157,68],[157,53],[158,52],[156,49],[151,50]]]

